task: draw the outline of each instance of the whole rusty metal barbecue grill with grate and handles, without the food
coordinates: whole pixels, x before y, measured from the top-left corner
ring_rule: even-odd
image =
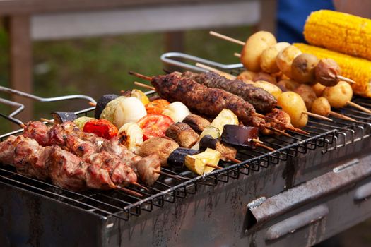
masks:
[[[171,59],[174,56],[190,59],[172,53],[164,54],[163,60],[179,66]],[[240,67],[200,62],[232,72]],[[353,101],[371,106],[368,99]],[[76,114],[90,116],[93,110]],[[310,118],[304,128],[310,135],[263,137],[276,151],[240,150],[241,163],[222,162],[223,169],[204,176],[162,168],[180,180],[161,175],[148,191],[129,186],[142,198],[122,191],[67,191],[1,166],[0,242],[3,246],[319,243],[371,217],[371,202],[366,200],[371,195],[367,153],[371,115],[352,107],[341,109],[341,114],[358,122]]]

